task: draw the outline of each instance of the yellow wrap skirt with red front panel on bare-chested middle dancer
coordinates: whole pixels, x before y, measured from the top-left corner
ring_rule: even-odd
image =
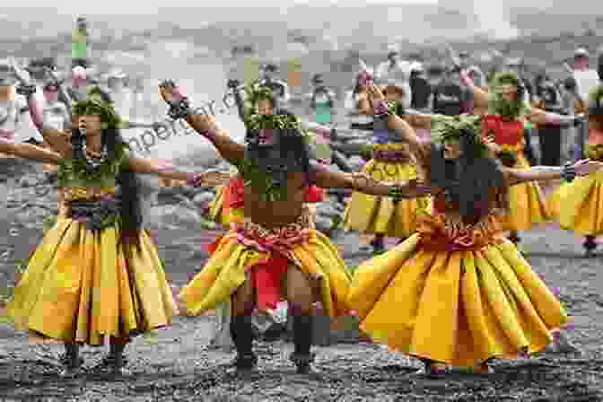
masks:
[[[218,239],[205,267],[179,293],[188,315],[203,314],[228,301],[249,277],[258,291],[258,310],[275,308],[284,294],[281,275],[294,266],[320,278],[319,298],[329,317],[344,316],[351,275],[336,246],[310,229],[308,213],[300,222],[268,230],[245,219]]]

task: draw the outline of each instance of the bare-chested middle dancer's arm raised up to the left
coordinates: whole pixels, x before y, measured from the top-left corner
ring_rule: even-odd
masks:
[[[170,117],[186,118],[190,127],[214,144],[220,155],[229,162],[239,162],[245,157],[245,146],[233,141],[227,130],[220,129],[213,116],[194,114],[188,99],[174,83],[165,81],[160,84],[163,100],[170,105]]]

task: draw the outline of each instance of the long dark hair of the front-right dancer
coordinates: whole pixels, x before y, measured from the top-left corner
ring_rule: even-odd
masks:
[[[494,205],[503,210],[508,208],[502,163],[485,153],[477,154],[475,141],[475,135],[461,135],[461,155],[456,159],[444,157],[442,144],[432,145],[430,181],[448,192],[468,223],[489,214]]]

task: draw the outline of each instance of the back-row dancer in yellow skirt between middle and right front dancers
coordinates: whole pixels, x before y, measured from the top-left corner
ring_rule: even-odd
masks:
[[[386,99],[392,107],[403,113],[403,89],[389,85],[385,89]],[[398,115],[402,116],[402,115]],[[363,167],[363,173],[383,181],[404,181],[416,179],[416,167],[408,145],[396,141],[389,130],[374,131],[372,159]],[[394,237],[405,240],[416,229],[416,214],[428,208],[428,197],[406,199],[394,204],[388,197],[375,197],[362,192],[352,193],[345,209],[345,229],[364,233],[374,233],[371,241],[373,252],[385,251],[384,238]]]

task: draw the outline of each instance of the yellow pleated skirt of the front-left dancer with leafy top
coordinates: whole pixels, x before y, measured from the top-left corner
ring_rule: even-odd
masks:
[[[153,240],[127,259],[116,228],[101,232],[59,216],[31,255],[8,302],[16,329],[34,340],[103,345],[170,324],[178,313]]]

